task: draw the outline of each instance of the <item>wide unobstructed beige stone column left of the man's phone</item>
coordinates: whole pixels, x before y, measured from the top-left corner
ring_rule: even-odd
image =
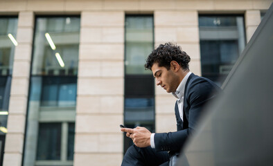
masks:
[[[82,12],[74,165],[123,158],[124,12]]]

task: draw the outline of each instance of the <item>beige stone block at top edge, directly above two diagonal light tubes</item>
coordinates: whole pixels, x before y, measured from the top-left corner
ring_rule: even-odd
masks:
[[[28,0],[27,10],[63,12],[65,0]]]

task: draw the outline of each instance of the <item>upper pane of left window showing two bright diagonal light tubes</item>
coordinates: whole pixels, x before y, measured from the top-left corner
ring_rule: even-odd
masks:
[[[33,75],[77,75],[79,17],[38,17]]]

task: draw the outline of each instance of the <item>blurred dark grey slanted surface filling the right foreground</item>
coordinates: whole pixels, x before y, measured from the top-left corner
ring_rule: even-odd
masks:
[[[273,7],[178,165],[273,165]]]

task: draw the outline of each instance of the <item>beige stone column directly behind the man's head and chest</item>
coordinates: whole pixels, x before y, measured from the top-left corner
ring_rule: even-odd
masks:
[[[198,14],[196,10],[155,11],[155,47],[166,42],[182,46],[191,56],[190,70],[201,75]],[[176,131],[175,98],[160,86],[156,87],[157,132]]]

